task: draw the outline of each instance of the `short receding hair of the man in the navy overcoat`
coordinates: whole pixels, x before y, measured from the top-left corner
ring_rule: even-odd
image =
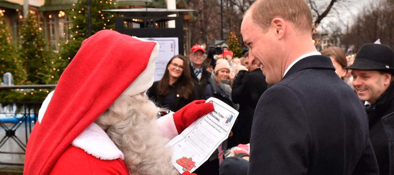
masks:
[[[297,34],[312,35],[313,18],[305,0],[256,0],[248,12],[264,33],[268,32],[273,18],[279,17],[291,22]]]

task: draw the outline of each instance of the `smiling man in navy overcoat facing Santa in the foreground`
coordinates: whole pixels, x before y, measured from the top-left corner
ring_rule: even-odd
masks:
[[[316,51],[305,0],[256,0],[241,33],[275,83],[256,106],[248,174],[378,174],[364,106]]]

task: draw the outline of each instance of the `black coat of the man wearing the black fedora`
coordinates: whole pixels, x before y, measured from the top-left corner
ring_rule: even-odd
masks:
[[[371,105],[366,107],[369,120],[370,140],[375,151],[379,173],[388,175],[390,168],[388,137],[382,125],[382,117],[394,112],[394,84],[386,89]]]

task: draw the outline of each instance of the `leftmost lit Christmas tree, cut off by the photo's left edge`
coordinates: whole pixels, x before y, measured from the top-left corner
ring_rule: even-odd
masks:
[[[0,9],[2,12],[2,10]],[[13,41],[10,33],[10,27],[6,24],[5,19],[0,13],[0,60],[1,75],[9,72],[14,78],[14,84],[26,80],[26,73],[22,71],[22,64],[19,62],[17,55],[17,43]],[[3,76],[0,77],[2,79]],[[2,80],[3,82],[3,80]]]

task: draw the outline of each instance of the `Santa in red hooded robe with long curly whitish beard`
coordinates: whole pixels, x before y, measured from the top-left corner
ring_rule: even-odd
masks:
[[[158,50],[112,30],[84,40],[39,110],[24,175],[179,174],[165,144],[213,106],[194,101],[157,119],[143,92]]]

